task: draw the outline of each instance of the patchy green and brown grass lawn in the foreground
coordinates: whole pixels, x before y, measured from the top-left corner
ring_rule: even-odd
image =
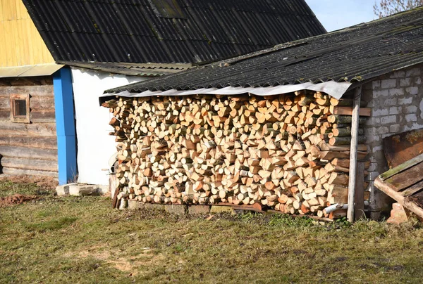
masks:
[[[283,215],[178,217],[0,182],[0,283],[421,283],[417,224]]]

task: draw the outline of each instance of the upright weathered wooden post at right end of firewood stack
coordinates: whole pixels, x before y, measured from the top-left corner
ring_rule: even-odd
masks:
[[[358,119],[360,112],[362,86],[358,86],[354,93],[353,117],[351,122],[351,148],[350,148],[350,179],[348,182],[348,212],[347,219],[354,221],[355,180],[357,176],[357,144],[358,144]]]

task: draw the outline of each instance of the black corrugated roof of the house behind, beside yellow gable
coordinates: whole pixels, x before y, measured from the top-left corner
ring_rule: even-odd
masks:
[[[204,63],[326,32],[304,0],[23,0],[56,61]]]

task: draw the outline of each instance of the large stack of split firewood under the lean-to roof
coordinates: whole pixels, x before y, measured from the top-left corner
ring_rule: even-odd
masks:
[[[118,142],[115,206],[233,204],[323,217],[347,202],[352,104],[309,91],[106,101]],[[358,150],[363,160],[366,147]]]

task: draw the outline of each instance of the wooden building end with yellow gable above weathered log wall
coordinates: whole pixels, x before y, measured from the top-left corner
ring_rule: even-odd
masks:
[[[0,164],[6,174],[57,176],[55,63],[22,1],[0,4]]]

